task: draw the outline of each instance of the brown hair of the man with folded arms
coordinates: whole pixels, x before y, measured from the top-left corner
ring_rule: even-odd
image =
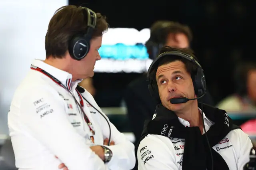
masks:
[[[68,50],[68,44],[75,34],[85,34],[87,28],[86,16],[82,7],[74,5],[62,6],[56,10],[48,25],[45,37],[46,58],[53,56],[62,58]],[[102,36],[108,30],[106,16],[96,13],[96,28],[92,38]]]

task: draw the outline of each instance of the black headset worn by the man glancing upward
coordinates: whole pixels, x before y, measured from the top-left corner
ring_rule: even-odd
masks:
[[[148,81],[148,89],[150,91],[150,94],[152,97],[156,99],[158,103],[160,103],[160,97],[158,93],[158,86],[155,79],[152,79],[151,73],[158,67],[159,61],[162,60],[165,56],[179,56],[184,59],[187,59],[197,65],[197,70],[195,73],[191,74],[191,78],[194,85],[195,94],[197,97],[200,97],[206,93],[206,79],[204,76],[204,70],[202,69],[202,66],[192,57],[191,55],[188,55],[187,53],[181,52],[181,51],[168,51],[161,53],[158,55],[158,57],[151,63],[148,73],[147,73],[147,81]],[[155,75],[154,75],[155,76]]]

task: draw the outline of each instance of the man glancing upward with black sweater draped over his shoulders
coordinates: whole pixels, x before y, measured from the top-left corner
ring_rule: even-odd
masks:
[[[145,124],[139,170],[242,170],[252,142],[224,110],[202,104],[204,72],[187,49],[163,47],[148,69],[158,105]],[[206,132],[206,133],[205,133]]]

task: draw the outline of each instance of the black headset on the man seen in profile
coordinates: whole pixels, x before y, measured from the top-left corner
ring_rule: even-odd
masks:
[[[96,26],[97,16],[96,13],[89,8],[82,7],[84,20],[87,20],[87,28],[85,34],[76,34],[70,40],[68,51],[73,59],[83,59],[90,50],[90,40],[92,32]]]

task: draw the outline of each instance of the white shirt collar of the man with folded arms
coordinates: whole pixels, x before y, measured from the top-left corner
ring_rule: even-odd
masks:
[[[82,81],[82,79],[78,79],[74,82],[71,82],[72,75],[66,71],[63,71],[61,69],[58,69],[56,67],[53,67],[52,65],[49,65],[45,63],[42,60],[34,59],[32,65],[39,67],[40,69],[43,69],[44,71],[48,72],[50,75],[58,79],[63,85],[65,85],[69,90],[76,89],[76,86],[78,83]]]

